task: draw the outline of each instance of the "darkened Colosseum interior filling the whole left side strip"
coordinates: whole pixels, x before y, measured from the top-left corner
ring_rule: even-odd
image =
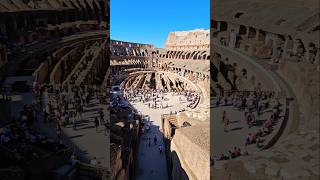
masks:
[[[110,179],[109,6],[0,1],[0,179]]]

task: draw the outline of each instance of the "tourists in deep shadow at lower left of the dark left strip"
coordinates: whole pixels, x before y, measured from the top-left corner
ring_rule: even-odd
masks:
[[[46,155],[38,149],[51,153],[66,148],[62,141],[36,130],[34,123],[38,121],[38,113],[34,105],[24,105],[17,119],[0,128],[0,144],[27,162]]]

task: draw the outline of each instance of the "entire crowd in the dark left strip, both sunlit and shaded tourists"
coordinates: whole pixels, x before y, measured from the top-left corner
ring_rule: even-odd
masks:
[[[106,104],[106,95],[97,86],[53,86],[50,84],[33,84],[34,97],[32,103],[24,105],[17,118],[2,121],[0,124],[0,150],[14,154],[15,162],[30,162],[50,158],[49,154],[58,155],[60,150],[69,151],[63,140],[62,127],[71,125],[77,130],[77,125],[84,118],[86,107],[92,106],[96,100]],[[93,101],[94,100],[94,101]],[[92,121],[98,129],[107,123],[103,109],[97,110],[98,116]],[[50,133],[40,133],[38,123],[48,123],[54,130]],[[105,131],[106,132],[106,131]],[[60,155],[59,155],[60,156]],[[75,154],[73,155],[75,156]],[[3,159],[1,164],[12,161]],[[79,162],[78,160],[73,160]],[[13,162],[10,162],[11,164]]]

